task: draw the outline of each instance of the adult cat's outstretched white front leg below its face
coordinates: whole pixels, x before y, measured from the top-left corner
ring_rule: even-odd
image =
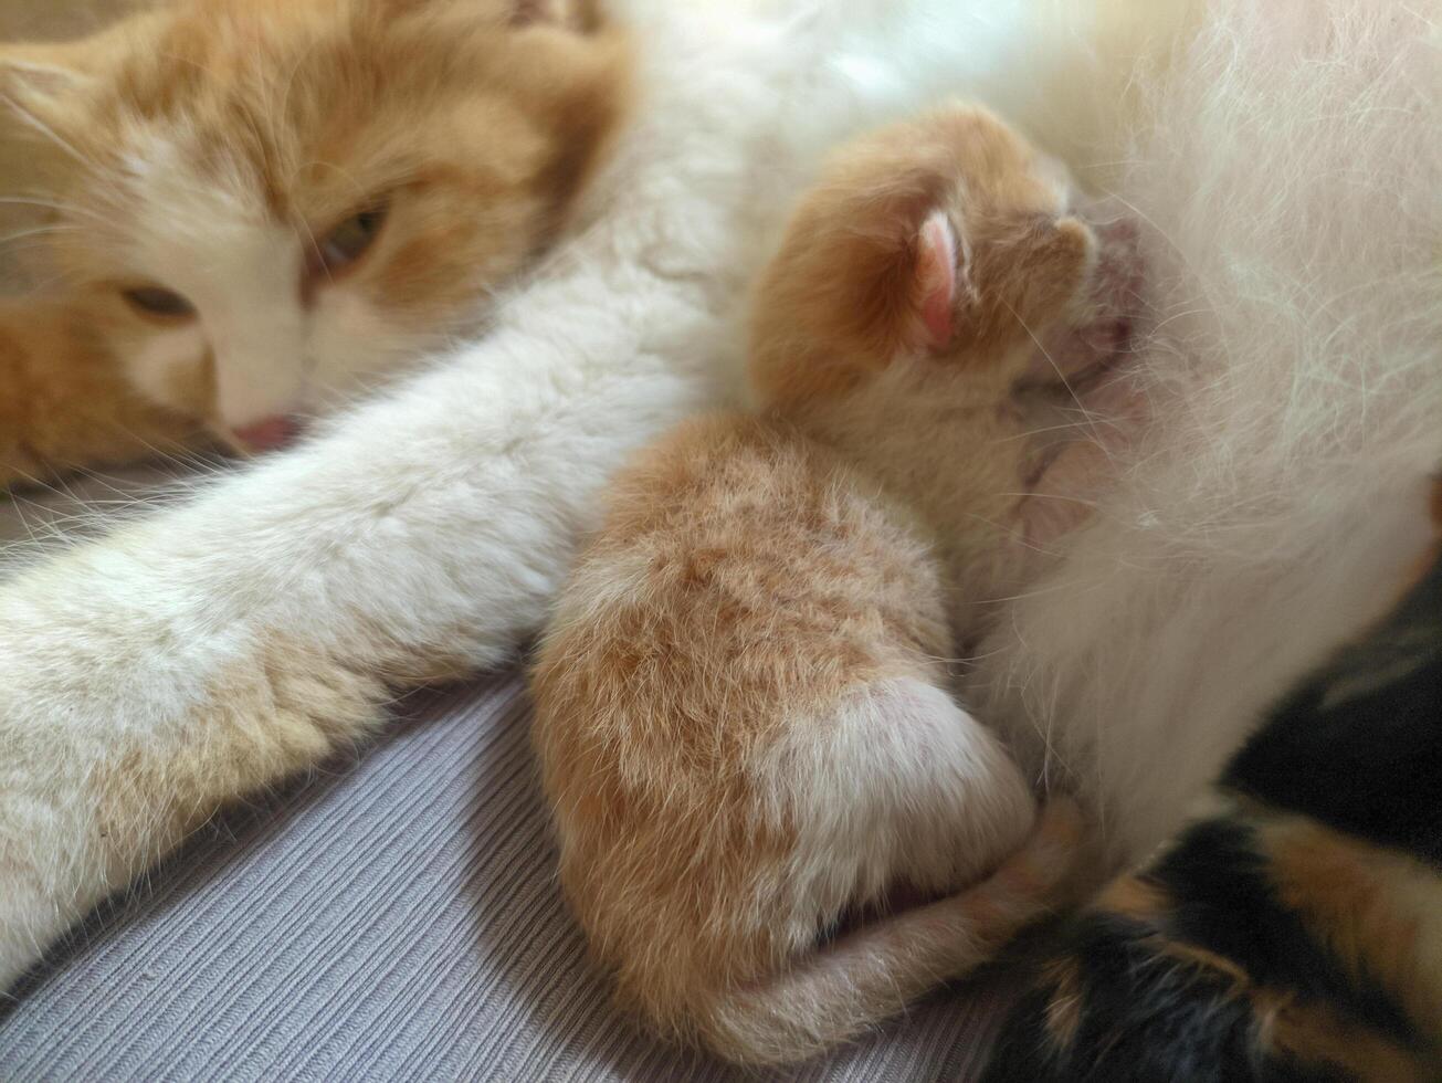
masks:
[[[610,470],[715,395],[565,310],[0,585],[0,991],[226,800],[365,737],[391,688],[536,629]]]

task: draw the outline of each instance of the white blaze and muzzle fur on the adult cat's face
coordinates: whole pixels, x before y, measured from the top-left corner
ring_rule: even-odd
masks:
[[[118,261],[137,284],[172,290],[196,311],[177,329],[136,319],[114,335],[127,375],[156,402],[186,405],[176,402],[176,378],[211,365],[211,421],[225,430],[313,415],[394,375],[433,340],[395,326],[348,278],[306,303],[313,241],[274,221],[251,177],[198,176],[193,156],[167,138],[138,130],[131,140],[120,183],[137,213]]]

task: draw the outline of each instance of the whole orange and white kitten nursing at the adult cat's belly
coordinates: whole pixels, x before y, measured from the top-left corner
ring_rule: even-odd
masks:
[[[1034,557],[1032,335],[1097,319],[1069,195],[972,108],[852,146],[761,278],[760,415],[682,425],[609,493],[535,743],[565,893],[662,1033],[806,1057],[1054,901],[1074,818],[1027,841],[1031,792],[946,659]],[[932,901],[818,950],[903,896]]]

